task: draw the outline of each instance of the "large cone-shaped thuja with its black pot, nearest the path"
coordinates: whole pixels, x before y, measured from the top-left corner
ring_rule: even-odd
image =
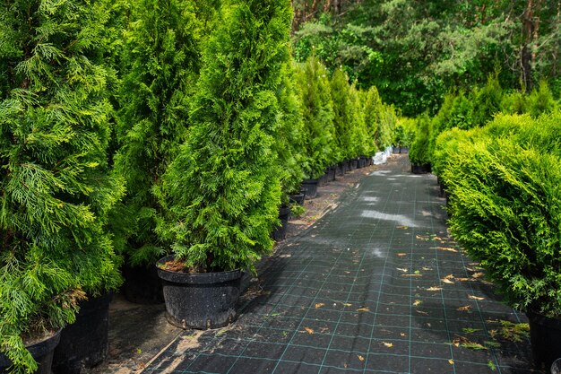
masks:
[[[203,53],[193,125],[156,189],[168,321],[194,328],[236,317],[240,279],[272,249],[280,182],[276,97],[289,60],[288,0],[229,1]]]

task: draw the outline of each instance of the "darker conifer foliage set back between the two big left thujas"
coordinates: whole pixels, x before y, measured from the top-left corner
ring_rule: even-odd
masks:
[[[126,222],[117,236],[132,265],[153,265],[166,250],[155,233],[161,207],[151,189],[186,140],[200,59],[195,12],[192,0],[138,0],[125,34],[116,171],[126,178],[117,209]]]

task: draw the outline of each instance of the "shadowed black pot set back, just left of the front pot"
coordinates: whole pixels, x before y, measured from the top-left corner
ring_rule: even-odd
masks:
[[[134,304],[160,304],[164,302],[164,292],[156,266],[130,266],[122,268],[125,283],[121,292],[125,299]]]

